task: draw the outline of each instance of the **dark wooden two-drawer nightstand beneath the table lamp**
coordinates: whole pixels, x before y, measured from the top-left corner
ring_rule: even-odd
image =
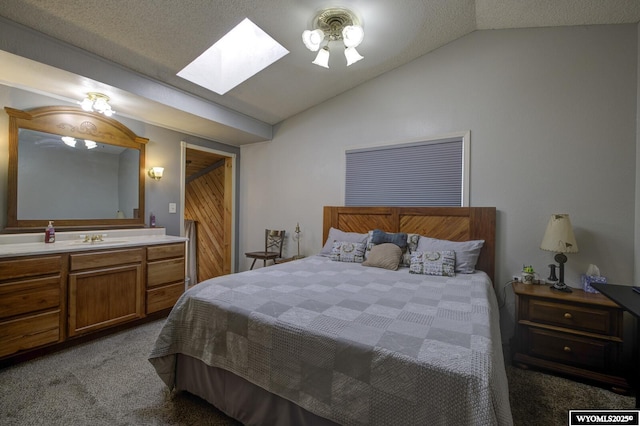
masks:
[[[608,385],[625,393],[623,310],[607,297],[573,289],[514,282],[516,334],[513,361]]]

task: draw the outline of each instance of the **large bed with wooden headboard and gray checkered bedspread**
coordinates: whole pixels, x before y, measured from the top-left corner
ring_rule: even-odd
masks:
[[[244,424],[512,424],[492,284],[495,215],[325,207],[320,253],[332,243],[330,256],[199,283],[176,303],[149,361],[171,389]],[[410,268],[336,261],[331,236],[370,243],[372,230],[483,244],[473,273],[453,276],[409,273],[416,247]],[[367,250],[391,244],[377,245]]]

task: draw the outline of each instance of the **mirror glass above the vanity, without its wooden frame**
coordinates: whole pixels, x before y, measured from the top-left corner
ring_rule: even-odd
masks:
[[[138,218],[139,164],[138,149],[19,129],[18,218]]]

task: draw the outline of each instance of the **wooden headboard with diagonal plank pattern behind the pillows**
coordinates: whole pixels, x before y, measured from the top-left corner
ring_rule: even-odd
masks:
[[[484,240],[476,269],[495,283],[495,207],[324,207],[323,238],[333,227],[345,232],[372,229],[406,232],[450,241]]]

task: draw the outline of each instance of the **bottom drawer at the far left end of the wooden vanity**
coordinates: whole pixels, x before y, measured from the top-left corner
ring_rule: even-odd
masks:
[[[60,311],[0,322],[0,357],[60,340]]]

